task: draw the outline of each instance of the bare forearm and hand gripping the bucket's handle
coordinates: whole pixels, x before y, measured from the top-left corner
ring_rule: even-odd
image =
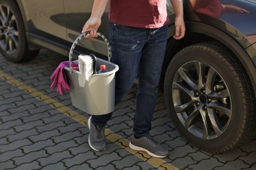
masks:
[[[93,10],[91,12],[91,16],[87,22],[85,22],[85,25],[83,26],[82,33],[85,33],[86,31],[90,31],[85,37],[97,37],[96,31],[98,30],[98,27],[100,27],[101,24],[101,18],[104,13],[104,10],[106,9],[106,5],[108,4],[108,0],[95,0],[93,3]]]

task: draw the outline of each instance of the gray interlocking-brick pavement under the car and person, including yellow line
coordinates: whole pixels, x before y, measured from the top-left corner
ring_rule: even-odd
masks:
[[[129,149],[136,85],[108,122],[107,149],[94,152],[87,142],[89,115],[72,107],[68,93],[49,88],[64,60],[48,50],[26,63],[0,56],[0,169],[256,169],[256,140],[223,154],[189,144],[173,126],[162,93],[152,135],[169,148],[169,156],[156,159]]]

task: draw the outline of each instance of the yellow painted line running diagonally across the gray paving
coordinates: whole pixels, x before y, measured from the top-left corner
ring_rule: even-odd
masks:
[[[3,73],[3,71],[0,71],[0,77],[3,78],[3,80],[8,82],[9,84],[16,86],[20,90],[30,93],[30,95],[39,99],[40,101],[47,103],[49,106],[58,110],[65,116],[68,116],[68,117],[72,118],[73,120],[75,120],[76,122],[79,122],[83,126],[88,127],[88,123],[87,123],[88,118],[87,117],[75,112],[74,110],[72,110],[72,109],[66,107],[65,105],[63,105],[62,103],[52,99],[48,95],[45,95],[44,93],[35,90],[34,88],[28,86],[27,84],[20,82],[16,78],[13,78],[12,76],[9,76],[6,73]],[[121,148],[127,150],[127,152],[130,152],[131,154],[137,156],[141,160],[147,161],[148,163],[150,163],[150,165],[157,167],[158,169],[168,169],[168,170],[177,170],[178,169],[177,167],[171,165],[170,163],[167,163],[165,160],[162,160],[160,158],[154,158],[154,157],[146,154],[146,152],[138,152],[136,150],[132,150],[131,148],[129,148],[129,141],[127,139],[124,139],[120,135],[117,135],[110,129],[105,129],[105,134],[106,134],[106,139],[108,139],[112,143],[117,144]]]

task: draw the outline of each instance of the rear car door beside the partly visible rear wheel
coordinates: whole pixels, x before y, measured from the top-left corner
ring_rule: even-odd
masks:
[[[22,1],[29,32],[62,43],[66,39],[63,0]]]

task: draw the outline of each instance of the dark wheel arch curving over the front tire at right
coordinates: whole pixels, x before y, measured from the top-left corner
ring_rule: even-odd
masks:
[[[164,76],[169,62],[171,61],[173,56],[177,54],[177,52],[179,52],[182,48],[185,48],[186,46],[190,46],[199,42],[219,41],[231,52],[233,52],[234,55],[242,63],[243,67],[247,72],[247,75],[252,81],[251,84],[253,85],[254,95],[256,97],[256,63],[253,63],[253,56],[249,56],[249,54],[245,52],[245,47],[239,44],[238,41],[233,39],[230,35],[222,31],[221,29],[200,22],[186,22],[186,35],[181,40],[175,40],[172,38],[174,30],[175,25],[170,25],[167,50],[161,72],[160,90],[163,91]]]

